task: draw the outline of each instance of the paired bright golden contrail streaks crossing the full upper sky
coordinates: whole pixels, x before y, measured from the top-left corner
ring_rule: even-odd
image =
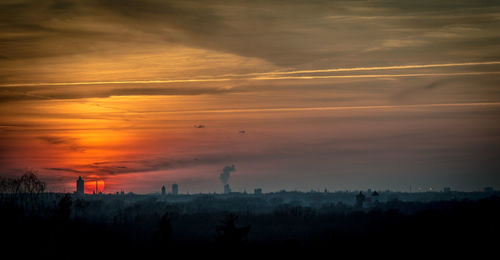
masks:
[[[130,80],[130,81],[103,81],[103,82],[55,82],[55,83],[17,83],[0,84],[0,102],[22,100],[51,100],[51,99],[81,99],[103,98],[111,96],[137,95],[210,95],[248,92],[258,87],[241,87],[242,82],[268,80],[314,80],[314,79],[362,79],[362,78],[402,78],[402,77],[456,77],[470,75],[494,75],[498,71],[491,68],[499,65],[500,61],[462,62],[440,64],[394,65],[354,68],[329,68],[315,70],[288,70],[270,71],[243,74],[227,74],[220,77],[205,76],[199,79],[174,80]],[[458,72],[427,72],[402,73],[403,70],[441,69],[441,68],[475,68],[475,71]],[[395,73],[387,74],[351,74],[358,71],[392,70]],[[480,71],[485,70],[485,71]],[[336,75],[317,75],[323,73],[341,73]],[[304,75],[296,75],[304,74]],[[225,82],[229,85],[219,85]],[[197,85],[192,85],[198,83]],[[184,84],[184,85],[179,85]],[[205,84],[200,86],[200,84]],[[240,85],[239,85],[240,84]],[[169,86],[172,85],[172,86]],[[68,88],[71,86],[71,88]],[[91,91],[88,91],[88,90]],[[262,90],[262,88],[261,88]]]

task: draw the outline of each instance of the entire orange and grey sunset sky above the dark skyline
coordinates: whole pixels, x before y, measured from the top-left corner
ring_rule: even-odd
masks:
[[[0,177],[500,188],[498,28],[498,1],[3,0]]]

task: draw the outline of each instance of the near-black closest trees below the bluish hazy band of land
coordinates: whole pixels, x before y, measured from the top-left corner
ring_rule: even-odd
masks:
[[[347,205],[315,209],[280,204],[272,206],[271,213],[259,214],[251,210],[189,211],[187,205],[153,199],[131,205],[70,195],[51,200],[56,203],[48,202],[51,206],[28,214],[19,205],[0,205],[2,236],[7,238],[3,245],[19,252],[56,256],[80,249],[88,254],[97,250],[126,255],[167,248],[215,250],[220,246],[252,252],[394,246],[443,249],[451,245],[471,247],[478,242],[491,245],[495,240],[490,237],[500,231],[497,197],[431,203],[393,201],[369,210]],[[411,213],[405,213],[408,208],[413,209]],[[25,247],[34,251],[24,251]]]

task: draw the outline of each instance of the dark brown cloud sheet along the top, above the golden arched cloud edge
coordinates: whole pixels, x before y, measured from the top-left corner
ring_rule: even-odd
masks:
[[[463,47],[453,44],[457,39],[436,41],[431,34],[457,24],[481,28],[472,38],[458,32],[463,36],[459,41],[473,41],[468,47],[490,42],[486,36],[498,37],[499,3],[495,1],[436,4],[429,0],[419,5],[409,0],[286,1],[286,6],[278,0],[6,2],[1,6],[0,38],[6,42],[1,55],[58,57],[111,49],[127,52],[122,49],[126,43],[167,43],[258,57],[283,67],[319,60],[373,64],[381,58],[402,58],[397,52],[388,57],[362,51],[380,43],[382,48],[411,47],[421,53],[413,61],[434,60],[436,54],[447,60],[449,53],[443,51],[451,47],[456,55]],[[65,48],[58,48],[59,44]],[[480,57],[498,54],[483,52]]]

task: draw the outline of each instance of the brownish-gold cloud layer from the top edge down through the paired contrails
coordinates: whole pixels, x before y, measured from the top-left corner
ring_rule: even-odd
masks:
[[[471,70],[477,75],[474,63],[500,59],[498,3],[286,5],[277,0],[2,2],[0,102],[255,91],[234,87],[245,81],[263,81],[258,83],[263,92],[269,80],[456,77]],[[436,37],[441,33],[456,37]],[[374,46],[384,51],[363,51]],[[351,75],[431,68],[440,70]],[[318,75],[337,72],[345,74]]]

